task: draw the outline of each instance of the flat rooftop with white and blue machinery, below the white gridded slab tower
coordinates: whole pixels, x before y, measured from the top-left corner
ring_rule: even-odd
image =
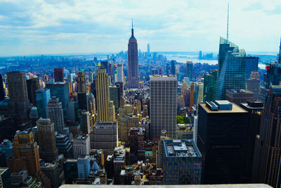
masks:
[[[196,144],[189,139],[165,139],[166,157],[201,157]]]

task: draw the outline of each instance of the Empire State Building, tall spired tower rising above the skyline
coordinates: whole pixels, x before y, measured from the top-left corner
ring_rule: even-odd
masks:
[[[138,88],[140,84],[138,78],[138,43],[133,37],[133,22],[131,29],[131,38],[128,43],[128,87]]]

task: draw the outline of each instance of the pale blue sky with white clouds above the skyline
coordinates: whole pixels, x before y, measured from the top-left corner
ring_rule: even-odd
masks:
[[[229,39],[277,52],[280,0],[230,0]],[[218,51],[223,0],[0,0],[0,56],[126,51],[131,18],[146,51]]]

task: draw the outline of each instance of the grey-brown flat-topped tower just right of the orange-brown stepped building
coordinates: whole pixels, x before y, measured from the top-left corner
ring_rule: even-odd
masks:
[[[58,158],[58,149],[55,146],[55,129],[50,119],[40,118],[37,121],[37,135],[40,157],[46,162],[53,162]]]

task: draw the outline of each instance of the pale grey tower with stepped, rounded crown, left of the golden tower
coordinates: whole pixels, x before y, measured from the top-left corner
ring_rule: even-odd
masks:
[[[58,131],[59,133],[63,132],[63,128],[65,127],[63,107],[62,103],[55,96],[52,96],[48,101],[47,114],[47,117],[54,123],[55,131]]]

